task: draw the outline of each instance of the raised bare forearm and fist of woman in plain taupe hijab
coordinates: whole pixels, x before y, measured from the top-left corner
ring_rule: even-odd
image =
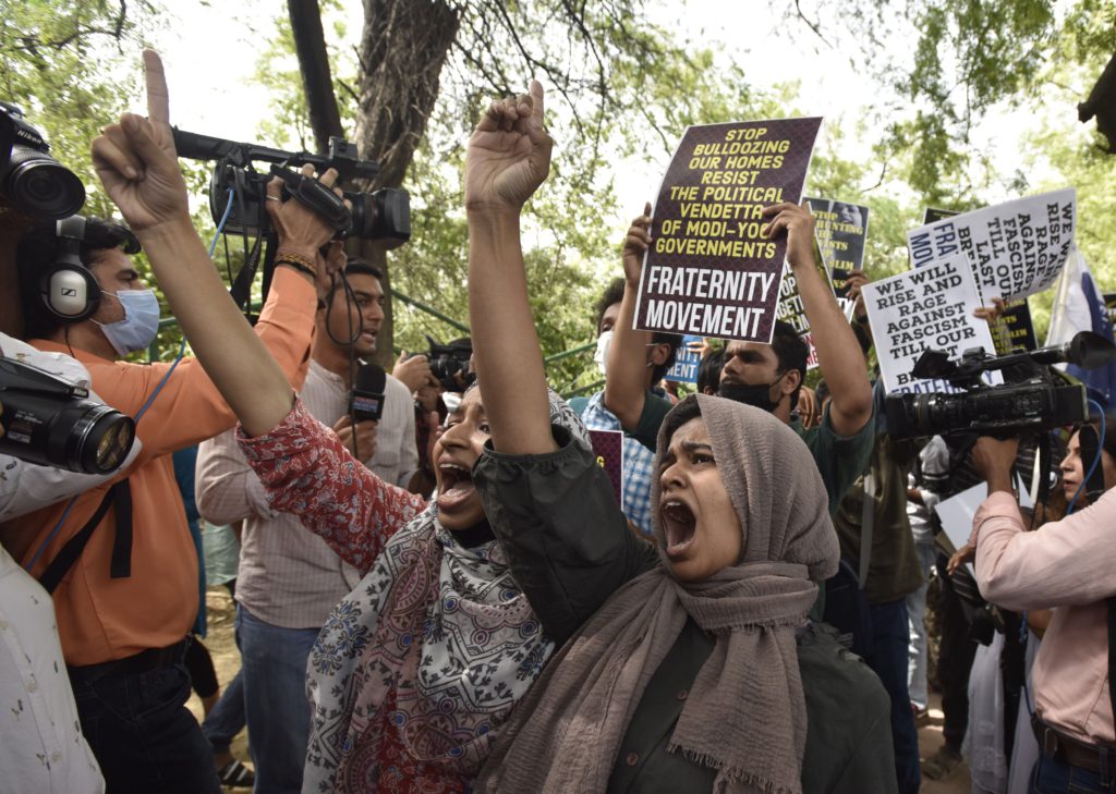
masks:
[[[477,379],[492,446],[508,454],[556,448],[542,351],[527,296],[519,217],[550,170],[554,142],[542,126],[542,86],[493,101],[469,139],[469,320]]]

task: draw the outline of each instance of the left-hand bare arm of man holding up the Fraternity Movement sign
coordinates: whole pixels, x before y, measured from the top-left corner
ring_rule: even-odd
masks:
[[[651,204],[632,221],[624,239],[624,299],[620,313],[613,327],[613,343],[608,350],[605,374],[605,407],[616,415],[625,430],[632,432],[639,424],[646,399],[644,379],[647,369],[645,350],[651,343],[651,331],[635,330],[635,302],[639,294],[643,256],[651,245]]]

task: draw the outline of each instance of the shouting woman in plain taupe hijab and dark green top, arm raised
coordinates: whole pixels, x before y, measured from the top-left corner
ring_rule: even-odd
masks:
[[[554,577],[586,543],[633,541],[615,502],[587,498],[593,457],[546,414],[519,248],[519,207],[549,167],[541,103],[537,84],[494,103],[466,158],[470,319],[491,428],[473,474],[537,611],[607,601],[501,728],[477,791],[894,792],[886,694],[807,622],[837,536],[817,466],[775,417],[687,398],[658,437],[657,556],[642,575],[586,570],[575,592]],[[769,233],[793,234],[797,219],[780,213]],[[549,517],[569,493],[593,527],[576,538]]]

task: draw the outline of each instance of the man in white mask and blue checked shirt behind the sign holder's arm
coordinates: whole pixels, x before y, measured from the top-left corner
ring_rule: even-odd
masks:
[[[620,313],[620,302],[624,299],[624,280],[616,279],[596,304],[597,356],[598,366],[607,375],[608,348],[616,332],[616,318]],[[639,384],[644,393],[668,399],[656,384],[663,379],[674,365],[682,337],[676,333],[652,333],[651,341],[641,348],[638,355],[642,361]],[[637,355],[633,351],[633,355]],[[623,430],[620,420],[605,406],[605,393],[598,391],[588,399],[575,397],[570,407],[576,410],[585,426],[590,430]],[[631,435],[624,435],[624,493],[622,507],[624,514],[645,535],[652,533],[651,525],[651,480],[654,445],[644,446]]]

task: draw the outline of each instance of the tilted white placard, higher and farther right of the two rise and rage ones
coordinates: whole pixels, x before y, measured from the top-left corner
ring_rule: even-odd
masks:
[[[1074,244],[1077,191],[1068,187],[945,217],[907,232],[915,268],[963,254],[982,302],[1050,287]]]

